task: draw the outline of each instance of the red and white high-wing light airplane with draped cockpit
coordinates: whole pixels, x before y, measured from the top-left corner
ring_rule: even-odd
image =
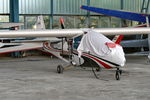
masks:
[[[121,74],[120,67],[123,67],[126,61],[123,48],[119,45],[122,36],[119,36],[116,41],[113,42],[104,35],[133,35],[149,33],[150,28],[0,31],[0,38],[43,38],[41,40],[21,41],[22,43],[0,43],[0,53],[40,48],[52,53],[56,57],[73,66],[83,64],[84,58],[88,58],[96,62],[99,67],[104,67],[106,69],[116,68],[115,76],[116,79],[119,80]],[[82,40],[77,51],[75,51],[73,50],[73,39],[81,35],[83,35]],[[70,59],[67,60],[60,56],[60,53],[62,52],[68,52],[70,54]],[[57,72],[62,73],[64,69],[66,69],[66,67],[59,65],[57,67]]]

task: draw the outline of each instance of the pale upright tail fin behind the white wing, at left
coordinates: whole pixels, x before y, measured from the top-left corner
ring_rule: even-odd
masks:
[[[44,19],[42,15],[37,17],[35,29],[45,29]]]

